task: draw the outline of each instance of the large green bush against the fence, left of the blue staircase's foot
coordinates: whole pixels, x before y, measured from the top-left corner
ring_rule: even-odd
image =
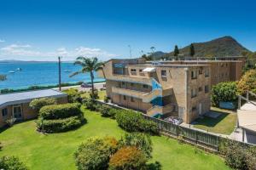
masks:
[[[120,110],[115,117],[119,127],[124,128],[128,132],[160,133],[155,122],[144,119],[140,113],[135,111]]]

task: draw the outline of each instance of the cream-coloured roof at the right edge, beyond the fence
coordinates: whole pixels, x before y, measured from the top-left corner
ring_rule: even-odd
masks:
[[[256,111],[237,110],[239,127],[256,132]]]

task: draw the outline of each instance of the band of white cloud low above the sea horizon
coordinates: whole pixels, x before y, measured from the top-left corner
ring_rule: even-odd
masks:
[[[42,52],[38,48],[33,48],[29,44],[11,44],[9,46],[0,48],[0,57],[12,59],[26,59],[26,60],[55,60],[56,56],[63,56],[65,60],[73,60],[78,56],[98,57],[99,59],[106,60],[115,54],[109,54],[101,48],[88,48],[80,46],[72,50],[61,47],[55,51]]]

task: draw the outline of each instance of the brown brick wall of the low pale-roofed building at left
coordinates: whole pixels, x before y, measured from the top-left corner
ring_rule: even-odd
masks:
[[[67,103],[67,97],[64,98],[57,98],[57,104],[66,104]],[[31,107],[29,107],[29,103],[22,103],[21,105],[21,111],[22,111],[22,120],[29,120],[36,118],[38,116],[38,113],[34,110],[32,110]],[[0,127],[3,127],[6,125],[6,120],[11,118],[13,116],[13,106],[14,105],[8,105],[7,107],[0,108]],[[3,117],[2,110],[4,108],[8,109],[8,116]]]

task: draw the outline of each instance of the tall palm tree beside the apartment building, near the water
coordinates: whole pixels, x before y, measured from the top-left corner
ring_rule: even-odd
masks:
[[[94,82],[93,82],[94,81],[94,75],[93,75],[93,72],[100,70],[103,63],[99,62],[96,57],[88,58],[88,57],[80,56],[76,59],[76,61],[74,62],[74,65],[81,65],[82,69],[80,71],[74,72],[69,77],[73,77],[73,76],[81,74],[81,73],[90,72],[91,94],[92,94],[92,98],[94,99],[95,96],[94,96]]]

